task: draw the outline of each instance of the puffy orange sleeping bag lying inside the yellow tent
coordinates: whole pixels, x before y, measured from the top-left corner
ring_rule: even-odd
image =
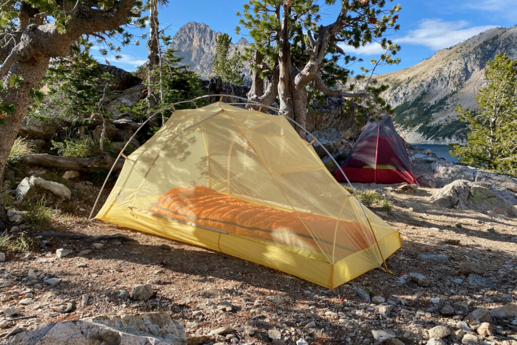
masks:
[[[255,205],[200,186],[171,189],[149,210],[235,235],[328,254],[332,253],[336,232],[336,219]],[[335,237],[334,255],[340,258],[375,243],[370,231],[358,222],[346,220],[339,221]]]

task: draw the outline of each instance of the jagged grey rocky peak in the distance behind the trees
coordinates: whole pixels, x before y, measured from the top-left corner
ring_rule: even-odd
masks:
[[[174,35],[172,48],[177,50],[177,56],[183,57],[181,63],[190,67],[201,77],[209,77],[212,73],[212,63],[216,54],[216,37],[220,32],[212,30],[205,23],[189,22],[181,26]],[[231,33],[230,37],[232,37]],[[230,51],[234,49],[242,54],[249,42],[242,37],[237,43],[231,43]],[[245,71],[248,72],[248,71]]]

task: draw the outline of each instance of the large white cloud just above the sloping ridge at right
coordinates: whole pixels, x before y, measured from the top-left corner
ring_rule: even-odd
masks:
[[[399,44],[416,44],[439,50],[463,42],[472,36],[496,27],[495,25],[467,26],[468,22],[463,20],[444,22],[439,19],[424,19],[420,22],[418,28],[409,31],[409,34],[404,37],[394,39],[394,41]]]

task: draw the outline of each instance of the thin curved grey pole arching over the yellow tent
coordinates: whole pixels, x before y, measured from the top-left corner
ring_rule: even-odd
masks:
[[[275,112],[277,112],[278,114],[281,114],[283,115],[288,121],[291,121],[293,124],[297,125],[298,127],[300,127],[305,133],[307,133],[311,138],[312,138],[312,141],[317,143],[318,145],[320,145],[322,148],[323,148],[323,151],[330,157],[330,159],[334,162],[334,164],[336,164],[336,166],[338,167],[339,171],[343,174],[343,176],[345,176],[345,179],[346,179],[346,182],[348,183],[348,185],[350,186],[350,188],[352,188],[352,191],[353,191],[353,194],[354,196],[356,197],[356,200],[359,202],[359,205],[361,206],[361,209],[362,209],[362,212],[364,213],[364,217],[366,217],[366,219],[368,220],[368,224],[370,226],[370,230],[372,231],[372,235],[375,239],[375,243],[377,245],[377,249],[379,250],[379,254],[381,255],[381,258],[383,260],[383,263],[384,263],[384,267],[386,268],[386,271],[388,273],[391,273],[391,271],[389,271],[388,269],[388,266],[386,265],[386,261],[384,260],[384,257],[383,257],[383,253],[381,251],[381,247],[379,246],[379,243],[377,241],[377,236],[375,236],[375,232],[373,231],[373,227],[372,227],[372,223],[370,222],[370,218],[368,217],[368,214],[366,213],[366,210],[364,209],[364,206],[361,202],[361,200],[359,200],[359,197],[357,195],[357,192],[354,188],[354,186],[352,186],[352,183],[349,181],[348,177],[346,177],[346,174],[345,172],[343,171],[343,169],[341,169],[341,166],[338,164],[338,162],[336,161],[336,159],[334,159],[334,157],[332,157],[332,155],[330,154],[330,152],[328,152],[327,148],[325,146],[323,146],[323,144],[311,133],[307,130],[307,128],[303,127],[302,125],[300,125],[298,122],[296,122],[294,119],[292,119],[291,117],[288,117],[285,112],[279,108],[275,108],[275,107],[270,107],[270,106],[266,106],[264,105],[263,103],[260,103],[260,102],[257,102],[257,101],[254,101],[254,100],[251,100],[251,99],[248,99],[248,98],[244,98],[244,97],[240,97],[240,96],[234,96],[234,95],[227,95],[227,94],[218,94],[218,95],[204,95],[204,96],[200,96],[200,97],[196,97],[196,98],[192,98],[192,99],[189,99],[189,100],[185,100],[185,101],[179,101],[179,102],[175,102],[175,103],[172,103],[170,104],[169,106],[166,106],[166,107],[163,107],[162,109],[159,109],[157,110],[155,113],[151,114],[147,119],[146,121],[144,121],[142,123],[142,125],[140,125],[139,128],[137,128],[135,130],[135,132],[133,133],[133,135],[131,136],[131,138],[129,138],[129,140],[126,142],[126,144],[124,145],[124,147],[120,150],[120,153],[118,154],[118,156],[123,156],[123,153],[124,153],[124,150],[127,148],[127,146],[129,145],[129,143],[131,142],[131,140],[134,139],[134,137],[136,136],[136,134],[140,131],[140,129],[142,129],[142,127],[150,121],[151,118],[153,118],[155,115],[159,114],[160,112],[163,112],[165,109],[168,109],[168,108],[173,108],[175,109],[174,106],[176,106],[177,104],[182,104],[182,103],[194,103],[194,105],[196,105],[195,101],[196,100],[199,100],[199,99],[203,99],[203,98],[208,98],[208,97],[217,97],[217,96],[220,96],[220,100],[222,99],[222,97],[231,97],[231,98],[237,98],[237,99],[241,99],[241,100],[245,100],[246,102],[241,102],[241,103],[238,103],[238,102],[229,102],[229,103],[222,103],[222,102],[217,102],[217,103],[221,103],[221,104],[229,104],[229,105],[246,105],[246,104],[250,104],[250,103],[254,103],[256,106],[260,106],[261,108],[267,108],[267,109],[270,109],[270,110],[273,110]],[[102,193],[102,190],[104,189],[105,185],[107,184],[108,182],[108,179],[111,175],[111,173],[113,172],[113,169],[115,168],[115,165],[117,163],[118,159],[115,160],[115,162],[113,162],[113,165],[110,169],[110,171],[108,172],[108,175],[106,176],[106,178],[104,179],[104,183],[102,184],[102,187],[99,191],[99,194],[97,196],[97,199],[95,200],[95,203],[92,207],[92,211],[90,211],[90,214],[88,216],[88,221],[92,221],[93,218],[92,218],[92,215],[94,213],[94,210],[95,210],[95,207],[97,206],[97,203],[100,199],[100,196],[101,196],[101,193]]]

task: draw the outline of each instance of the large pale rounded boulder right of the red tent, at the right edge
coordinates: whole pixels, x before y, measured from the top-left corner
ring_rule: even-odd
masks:
[[[436,191],[430,202],[442,207],[473,209],[478,212],[494,211],[508,217],[517,216],[515,206],[493,190],[466,179],[458,179]]]

